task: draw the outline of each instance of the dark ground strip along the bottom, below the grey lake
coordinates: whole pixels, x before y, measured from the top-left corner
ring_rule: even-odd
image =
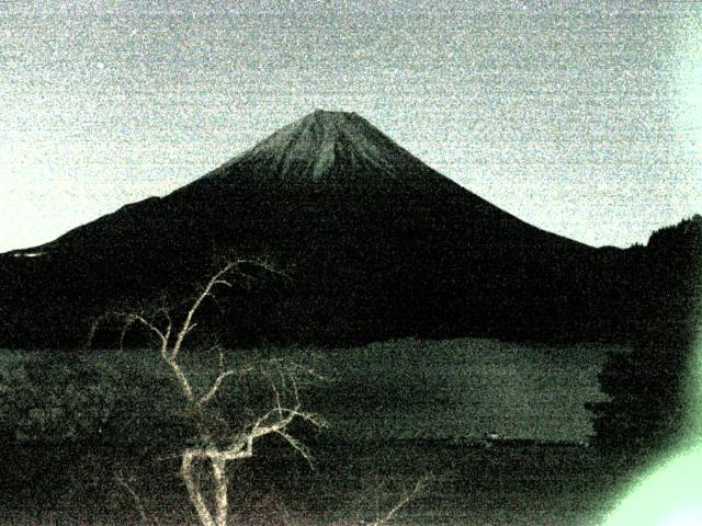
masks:
[[[367,524],[421,481],[389,524],[597,525],[625,479],[611,459],[574,446],[313,439],[315,471],[279,446],[230,465],[230,524]],[[5,446],[3,457],[3,525],[197,524],[168,454]]]

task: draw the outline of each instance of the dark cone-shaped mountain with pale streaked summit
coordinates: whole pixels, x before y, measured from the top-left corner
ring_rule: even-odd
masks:
[[[540,230],[364,118],[316,111],[170,195],[0,255],[0,346],[79,345],[105,310],[182,297],[231,255],[287,276],[220,298],[231,343],[621,340],[633,316],[625,251]]]

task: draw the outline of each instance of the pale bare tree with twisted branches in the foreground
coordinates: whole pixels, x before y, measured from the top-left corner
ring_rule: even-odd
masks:
[[[214,379],[211,378],[211,381],[201,386],[195,381],[194,375],[189,374],[180,361],[185,339],[196,327],[194,320],[203,302],[208,298],[214,298],[217,288],[233,287],[236,277],[245,281],[252,279],[252,276],[242,270],[242,265],[251,264],[268,272],[275,272],[274,268],[263,263],[247,260],[230,261],[215,272],[191,301],[185,304],[186,311],[182,316],[182,321],[176,322],[176,317],[167,307],[144,311],[116,311],[102,317],[93,325],[91,333],[92,338],[100,321],[113,319],[122,322],[121,344],[128,329],[135,324],[143,325],[156,336],[162,362],[169,367],[177,380],[188,411],[193,415],[196,424],[199,435],[196,444],[184,448],[179,454],[181,458],[180,474],[203,526],[226,526],[227,524],[229,512],[228,462],[253,456],[257,439],[267,435],[278,435],[312,464],[308,450],[288,432],[288,426],[295,420],[306,421],[314,426],[325,425],[319,418],[302,410],[299,381],[305,376],[314,376],[313,370],[281,359],[271,359],[259,364],[258,367],[250,365],[244,368],[227,368],[224,350],[215,345],[214,350],[219,355],[217,373]],[[268,408],[245,419],[242,425],[236,430],[228,430],[224,436],[220,432],[213,433],[214,422],[211,421],[211,413],[206,411],[207,405],[220,393],[227,380],[254,373],[260,373],[270,387],[271,400]],[[195,462],[199,461],[211,468],[214,480],[214,498],[211,503],[207,503],[206,493],[196,477]]]

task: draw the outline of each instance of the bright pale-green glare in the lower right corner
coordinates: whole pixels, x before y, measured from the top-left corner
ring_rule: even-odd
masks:
[[[702,334],[690,364],[690,434],[618,503],[602,526],[702,526]]]

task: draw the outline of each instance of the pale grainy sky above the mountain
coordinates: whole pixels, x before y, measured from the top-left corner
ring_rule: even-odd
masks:
[[[539,227],[645,242],[702,211],[702,2],[0,0],[0,251],[316,107]]]

